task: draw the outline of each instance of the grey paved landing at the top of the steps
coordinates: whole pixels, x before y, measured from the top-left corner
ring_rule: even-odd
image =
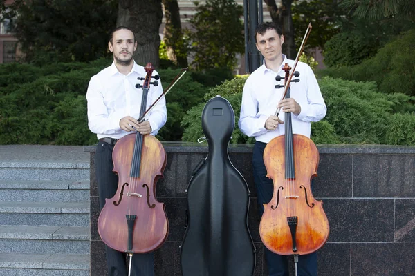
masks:
[[[0,145],[0,161],[89,163],[83,146]]]

